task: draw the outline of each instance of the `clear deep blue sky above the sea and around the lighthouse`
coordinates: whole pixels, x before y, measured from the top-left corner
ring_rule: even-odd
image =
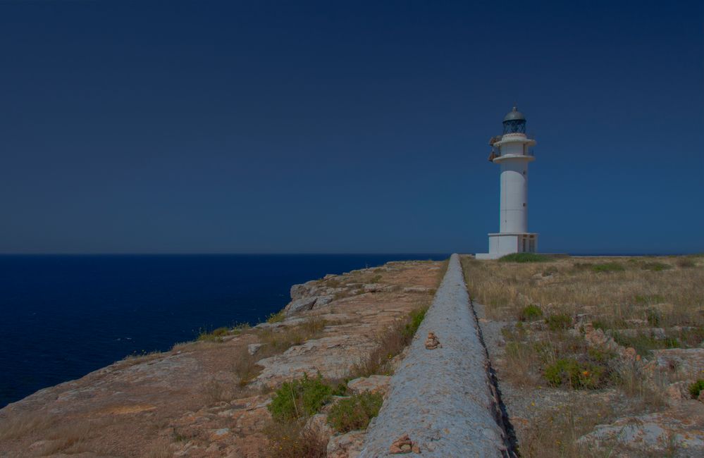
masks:
[[[700,1],[0,1],[0,252],[704,251]]]

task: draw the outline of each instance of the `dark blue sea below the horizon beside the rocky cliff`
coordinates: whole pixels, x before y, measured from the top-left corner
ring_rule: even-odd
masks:
[[[0,407],[199,330],[257,323],[292,284],[445,255],[0,256]]]

